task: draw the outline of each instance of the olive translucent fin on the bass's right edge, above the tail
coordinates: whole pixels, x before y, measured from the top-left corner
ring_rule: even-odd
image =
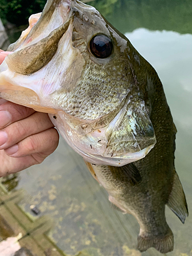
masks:
[[[169,195],[167,206],[177,215],[182,223],[188,217],[188,208],[185,194],[177,173],[175,172],[172,192]]]

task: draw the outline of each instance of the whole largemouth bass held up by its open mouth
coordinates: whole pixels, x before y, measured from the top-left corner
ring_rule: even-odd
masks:
[[[174,167],[176,128],[156,71],[79,1],[48,0],[29,22],[0,66],[1,97],[49,113],[109,200],[139,222],[140,251],[172,251],[165,205],[183,223],[188,210]]]

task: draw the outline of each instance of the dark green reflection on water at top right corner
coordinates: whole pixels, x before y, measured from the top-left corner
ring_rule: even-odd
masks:
[[[191,0],[98,0],[90,4],[122,33],[137,28],[192,33]]]

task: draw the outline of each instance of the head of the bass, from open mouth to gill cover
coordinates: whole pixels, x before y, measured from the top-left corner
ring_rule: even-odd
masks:
[[[156,137],[130,41],[92,6],[48,0],[0,66],[1,97],[49,116],[93,164],[122,166]],[[136,64],[135,64],[136,63]],[[146,80],[146,79],[145,79]]]

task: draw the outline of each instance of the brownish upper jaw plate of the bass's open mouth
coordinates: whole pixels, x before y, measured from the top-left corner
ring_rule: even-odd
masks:
[[[9,69],[17,74],[31,75],[45,67],[55,55],[59,41],[73,19],[70,10],[69,0],[59,3],[57,0],[48,1],[23,44],[17,45],[17,49],[7,56]],[[53,19],[54,23],[50,21],[45,24],[45,19],[48,18]]]

